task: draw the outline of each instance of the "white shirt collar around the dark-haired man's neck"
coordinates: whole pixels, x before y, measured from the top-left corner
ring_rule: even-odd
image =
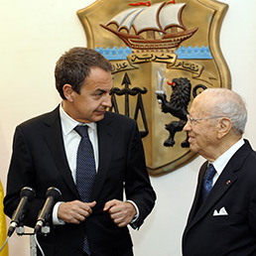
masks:
[[[72,119],[65,111],[63,108],[63,103],[60,104],[60,116],[61,116],[61,122],[62,122],[62,127],[63,127],[63,133],[64,136],[70,133],[73,128],[76,125],[85,125],[84,123],[79,123]],[[96,123],[86,123],[91,129],[96,130]]]

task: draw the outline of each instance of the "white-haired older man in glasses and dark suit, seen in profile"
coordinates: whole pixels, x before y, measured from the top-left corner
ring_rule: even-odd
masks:
[[[207,161],[184,231],[184,256],[256,255],[256,153],[242,138],[246,121],[245,103],[232,90],[209,88],[192,102],[184,130],[191,150]]]

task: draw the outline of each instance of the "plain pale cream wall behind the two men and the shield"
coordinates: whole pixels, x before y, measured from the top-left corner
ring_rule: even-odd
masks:
[[[0,0],[0,178],[4,187],[14,129],[60,102],[55,89],[55,63],[69,48],[86,46],[75,13],[93,2]],[[232,88],[247,101],[245,137],[256,149],[256,2],[224,2],[229,4],[229,10],[222,25],[220,46],[231,71]],[[181,255],[181,236],[202,162],[198,157],[172,174],[151,179],[158,200],[140,231],[131,230],[136,256]],[[29,237],[14,234],[9,248],[10,256],[30,255]]]

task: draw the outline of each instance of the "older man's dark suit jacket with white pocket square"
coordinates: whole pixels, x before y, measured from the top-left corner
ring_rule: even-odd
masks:
[[[201,204],[205,169],[206,163],[183,236],[184,256],[256,255],[256,153],[245,140]],[[222,207],[227,215],[213,216]]]

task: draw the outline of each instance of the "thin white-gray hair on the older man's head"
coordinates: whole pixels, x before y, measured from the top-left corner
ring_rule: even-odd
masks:
[[[215,98],[211,108],[212,116],[228,117],[232,122],[232,130],[237,135],[242,135],[247,122],[247,110],[244,99],[233,90],[227,88],[209,88],[206,91]]]

